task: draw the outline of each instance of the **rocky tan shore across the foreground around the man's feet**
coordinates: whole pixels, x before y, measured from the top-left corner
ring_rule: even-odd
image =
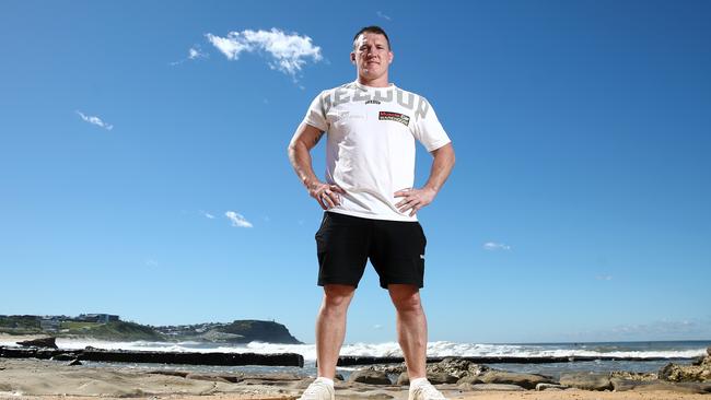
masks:
[[[27,349],[0,349],[0,355],[34,352],[45,360],[0,356],[0,397],[101,396],[231,396],[230,398],[293,399],[314,377],[305,374],[196,373],[82,365],[98,349],[72,354],[54,349],[54,341],[27,342]],[[33,346],[34,345],[34,346]],[[37,348],[42,345],[43,348]],[[46,355],[57,353],[54,360]],[[114,352],[116,353],[116,352]],[[428,364],[428,378],[447,398],[509,399],[692,399],[711,398],[711,348],[691,365],[669,363],[657,373],[563,373],[560,377],[496,369],[463,357]],[[170,353],[168,353],[170,354]],[[299,355],[299,357],[301,357]],[[275,364],[269,364],[275,365]],[[301,357],[303,366],[303,357]],[[165,367],[166,365],[163,365]],[[387,400],[407,397],[409,378],[403,363],[363,366],[337,380],[339,398]],[[625,395],[627,393],[627,395]],[[535,395],[535,396],[534,396]],[[488,397],[487,397],[488,396]],[[610,397],[614,396],[614,397]]]

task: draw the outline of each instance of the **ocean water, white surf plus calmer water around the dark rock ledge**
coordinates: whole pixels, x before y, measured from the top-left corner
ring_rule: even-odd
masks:
[[[7,337],[0,345],[15,345]],[[209,366],[164,365],[83,362],[86,366],[110,366],[140,369],[183,369],[202,373],[295,373],[303,376],[316,374],[316,349],[314,344],[276,344],[252,342],[243,345],[225,345],[202,342],[105,342],[95,340],[57,339],[60,349],[83,349],[88,345],[98,349],[123,349],[171,352],[236,352],[236,353],[299,353],[304,357],[304,367],[266,366]],[[664,357],[662,361],[597,361],[552,364],[488,364],[491,367],[550,375],[575,370],[629,370],[639,373],[657,372],[669,362],[690,364],[693,357],[706,354],[711,341],[650,341],[650,342],[591,342],[591,343],[455,343],[447,341],[428,343],[429,356],[617,356],[617,357]],[[345,344],[341,355],[401,356],[396,342]],[[348,377],[358,367],[339,367],[338,373]]]

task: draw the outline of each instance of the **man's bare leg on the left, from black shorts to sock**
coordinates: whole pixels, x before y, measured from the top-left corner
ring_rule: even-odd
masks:
[[[316,358],[318,376],[334,379],[338,353],[346,337],[346,315],[356,287],[324,285],[324,301],[316,318]]]

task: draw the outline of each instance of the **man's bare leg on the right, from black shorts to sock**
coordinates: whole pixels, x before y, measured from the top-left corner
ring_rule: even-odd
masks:
[[[420,290],[410,284],[389,284],[387,290],[397,314],[397,341],[400,343],[410,381],[426,377],[427,318]]]

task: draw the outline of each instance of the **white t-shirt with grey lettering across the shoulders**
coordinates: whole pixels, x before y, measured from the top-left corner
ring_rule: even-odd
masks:
[[[326,181],[338,185],[341,204],[328,211],[375,220],[417,221],[395,204],[398,190],[415,183],[415,140],[428,151],[450,138],[432,106],[394,84],[356,82],[323,91],[304,122],[327,132]]]

